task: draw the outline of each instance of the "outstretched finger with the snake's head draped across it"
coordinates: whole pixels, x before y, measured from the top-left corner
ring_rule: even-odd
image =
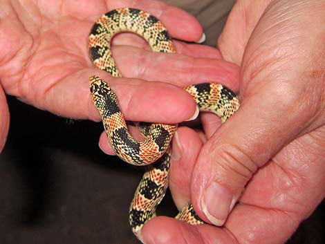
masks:
[[[35,91],[35,104],[61,116],[99,121],[100,115],[89,91],[90,75],[99,75],[111,86],[126,120],[177,123],[196,114],[196,104],[182,88],[140,79],[114,78],[97,69],[82,69],[54,85],[46,82],[46,88]]]

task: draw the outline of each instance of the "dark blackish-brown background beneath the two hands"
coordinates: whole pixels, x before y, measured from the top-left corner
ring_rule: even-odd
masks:
[[[14,97],[8,103],[10,132],[0,154],[0,243],[140,243],[127,213],[142,169],[100,151],[102,124],[59,118]],[[176,214],[169,194],[159,210]],[[323,202],[288,244],[325,243],[324,219]]]

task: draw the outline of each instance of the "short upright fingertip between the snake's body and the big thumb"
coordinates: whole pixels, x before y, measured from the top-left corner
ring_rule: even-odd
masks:
[[[178,128],[174,135],[170,159],[169,189],[178,210],[190,201],[190,182],[194,163],[202,147],[196,131]]]

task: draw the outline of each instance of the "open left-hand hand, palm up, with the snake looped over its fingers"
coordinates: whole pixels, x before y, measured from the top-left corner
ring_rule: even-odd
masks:
[[[87,39],[91,27],[104,12],[126,6],[155,15],[163,21],[174,38],[198,41],[202,36],[202,28],[194,17],[160,1],[1,3],[0,151],[9,119],[3,90],[57,115],[99,121],[100,116],[89,94],[88,79],[90,75],[97,74],[109,80],[127,120],[180,122],[194,114],[196,106],[192,97],[181,88],[159,82],[177,79],[190,83],[196,78],[195,75],[202,76],[205,73],[206,79],[209,79],[216,77],[221,69],[224,73],[233,73],[231,76],[237,79],[239,68],[232,64],[216,60],[214,66],[206,66],[209,58],[221,58],[220,53],[212,48],[197,48],[198,45],[176,41],[178,55],[152,54],[145,41],[132,34],[118,35],[112,49],[124,77],[135,79],[111,78],[104,71],[97,71],[88,54]],[[130,43],[133,46],[129,46]],[[201,59],[201,56],[205,58]],[[171,63],[176,66],[166,66]],[[143,79],[158,82],[145,82]],[[143,91],[150,97],[150,104],[147,97],[143,96]],[[165,99],[161,100],[161,97]],[[148,108],[152,104],[155,110]]]

